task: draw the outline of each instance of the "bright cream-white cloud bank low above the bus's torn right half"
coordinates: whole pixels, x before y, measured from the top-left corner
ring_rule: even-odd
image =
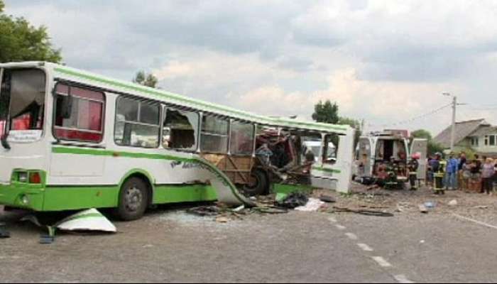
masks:
[[[314,105],[320,100],[329,99],[337,102],[341,116],[365,119],[370,129],[415,125],[439,131],[449,123],[449,116],[438,114],[427,116],[425,119],[410,122],[410,125],[398,122],[427,114],[448,104],[449,101],[442,96],[444,90],[462,92],[463,89],[452,84],[360,80],[354,69],[338,70],[329,77],[328,82],[326,89],[312,93],[286,93],[278,85],[258,87],[241,96],[239,106],[258,109],[263,114],[285,116],[297,114],[310,119]],[[430,119],[437,119],[437,124],[425,125]]]

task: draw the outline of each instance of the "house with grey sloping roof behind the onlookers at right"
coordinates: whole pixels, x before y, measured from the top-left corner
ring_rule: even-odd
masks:
[[[497,158],[497,126],[491,126],[485,119],[474,119],[456,123],[454,148],[471,148],[480,155]],[[444,148],[450,148],[452,126],[439,133],[433,141]]]

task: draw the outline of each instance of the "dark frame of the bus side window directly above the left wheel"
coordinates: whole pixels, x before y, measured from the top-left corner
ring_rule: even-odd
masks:
[[[115,111],[114,111],[114,131],[112,132],[112,140],[114,141],[114,144],[116,144],[116,146],[120,146],[120,147],[132,147],[132,148],[143,148],[143,149],[158,149],[160,148],[160,144],[161,144],[161,141],[162,139],[160,138],[160,136],[162,135],[162,129],[161,129],[161,124],[160,124],[160,118],[162,117],[162,111],[163,111],[163,103],[160,102],[160,101],[157,101],[155,99],[147,99],[147,98],[143,98],[143,97],[138,97],[138,96],[133,96],[131,94],[122,94],[122,93],[117,93],[119,94],[119,97],[116,98],[116,104],[115,104]],[[155,146],[155,147],[143,147],[143,146],[136,146],[136,145],[126,145],[126,144],[122,144],[122,143],[118,143],[116,141],[116,122],[117,122],[117,108],[118,108],[118,105],[119,105],[119,101],[121,99],[133,99],[135,100],[136,102],[150,102],[152,104],[158,104],[158,107],[159,107],[159,117],[158,117],[158,125],[153,125],[153,124],[146,124],[146,123],[143,123],[143,122],[140,122],[140,104],[138,104],[138,116],[136,117],[136,120],[137,121],[126,121],[126,119],[124,120],[124,124],[126,123],[129,123],[129,124],[134,124],[134,125],[142,125],[142,126],[157,126],[158,127],[158,145]]]

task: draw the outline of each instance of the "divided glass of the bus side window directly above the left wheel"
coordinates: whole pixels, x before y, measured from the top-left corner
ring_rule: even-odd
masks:
[[[117,101],[114,139],[121,146],[159,146],[160,104],[120,97]]]

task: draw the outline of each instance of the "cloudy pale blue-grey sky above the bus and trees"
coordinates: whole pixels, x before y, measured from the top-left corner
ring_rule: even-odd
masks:
[[[436,135],[448,92],[465,104],[458,121],[497,124],[497,1],[5,2],[48,28],[66,65],[121,80],[145,70],[196,99],[300,119],[329,99],[366,131]]]

